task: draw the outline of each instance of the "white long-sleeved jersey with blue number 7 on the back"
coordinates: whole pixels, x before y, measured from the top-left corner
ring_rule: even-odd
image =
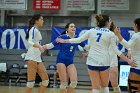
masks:
[[[109,46],[117,55],[122,52],[118,51],[115,42],[115,34],[107,28],[92,28],[79,38],[70,39],[70,43],[80,43],[86,39],[90,41],[90,49],[87,57],[87,65],[91,66],[110,66]]]

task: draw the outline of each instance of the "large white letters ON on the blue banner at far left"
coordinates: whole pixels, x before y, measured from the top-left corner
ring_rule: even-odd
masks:
[[[25,49],[28,48],[25,29],[6,29],[0,38],[3,49]]]

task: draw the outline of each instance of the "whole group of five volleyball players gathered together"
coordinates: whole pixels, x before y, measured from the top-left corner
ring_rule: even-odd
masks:
[[[56,59],[57,71],[60,78],[60,93],[74,93],[77,86],[77,70],[74,65],[74,53],[78,45],[88,51],[86,65],[92,84],[91,93],[109,93],[109,81],[113,92],[121,93],[118,86],[118,58],[119,56],[131,66],[128,79],[129,92],[139,93],[140,83],[140,18],[134,20],[134,35],[129,41],[123,39],[120,29],[115,26],[108,15],[96,15],[96,27],[86,31],[82,36],[75,35],[74,23],[68,23],[65,31],[53,42],[41,45],[42,36],[39,28],[43,26],[43,16],[34,15],[29,22],[26,37],[29,48],[25,56],[28,69],[28,82],[25,93],[31,93],[34,87],[36,73],[42,79],[38,93],[44,93],[49,83],[48,74],[42,63],[41,53],[45,50],[60,46]],[[83,41],[88,40],[85,44]],[[118,50],[117,44],[122,44],[127,50],[125,56]],[[70,84],[68,85],[68,79]],[[132,87],[136,87],[133,89]]]

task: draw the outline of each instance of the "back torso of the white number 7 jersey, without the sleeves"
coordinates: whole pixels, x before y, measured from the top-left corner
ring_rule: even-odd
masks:
[[[109,65],[112,32],[107,28],[93,28],[89,33],[90,51],[88,56],[97,62],[96,65]]]

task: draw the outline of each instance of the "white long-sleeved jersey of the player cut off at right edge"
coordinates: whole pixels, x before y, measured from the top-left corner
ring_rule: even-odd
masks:
[[[134,33],[128,42],[123,39],[121,43],[123,43],[125,47],[131,48],[132,58],[138,64],[136,69],[140,69],[140,32]]]

